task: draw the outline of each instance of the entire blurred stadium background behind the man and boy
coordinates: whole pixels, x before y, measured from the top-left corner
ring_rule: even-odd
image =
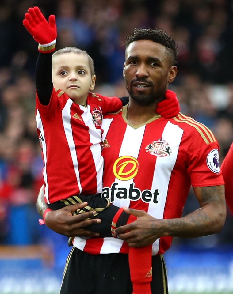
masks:
[[[38,225],[36,198],[43,162],[36,134],[37,43],[22,25],[39,6],[55,14],[57,49],[75,46],[94,59],[95,92],[127,96],[122,69],[125,36],[162,28],[178,43],[178,75],[170,89],[181,112],[204,123],[220,144],[233,141],[233,1],[1,0],[0,2],[0,294],[59,293],[67,237]],[[190,190],[184,215],[198,208]],[[223,230],[175,238],[165,254],[170,293],[233,293],[233,215]]]

